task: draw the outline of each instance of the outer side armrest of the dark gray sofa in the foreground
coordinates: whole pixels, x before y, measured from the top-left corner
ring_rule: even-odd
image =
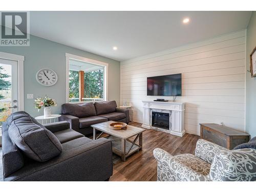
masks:
[[[105,181],[112,174],[112,143],[100,138],[65,150],[45,163],[33,161],[5,181]]]

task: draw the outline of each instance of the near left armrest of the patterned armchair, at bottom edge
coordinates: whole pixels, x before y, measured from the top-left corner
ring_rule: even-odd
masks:
[[[155,148],[158,181],[210,181],[208,177],[183,164],[176,156]]]

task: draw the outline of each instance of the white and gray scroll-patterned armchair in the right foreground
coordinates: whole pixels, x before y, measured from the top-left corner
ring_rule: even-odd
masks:
[[[256,181],[256,150],[227,150],[199,139],[195,155],[155,148],[158,181]]]

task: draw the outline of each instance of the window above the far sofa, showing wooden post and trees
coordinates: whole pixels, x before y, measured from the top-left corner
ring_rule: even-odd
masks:
[[[67,57],[68,102],[106,100],[107,63],[85,60]]]

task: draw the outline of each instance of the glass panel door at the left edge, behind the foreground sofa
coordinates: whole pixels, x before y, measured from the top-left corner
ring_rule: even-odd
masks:
[[[18,63],[0,59],[0,127],[15,111],[18,111]]]

